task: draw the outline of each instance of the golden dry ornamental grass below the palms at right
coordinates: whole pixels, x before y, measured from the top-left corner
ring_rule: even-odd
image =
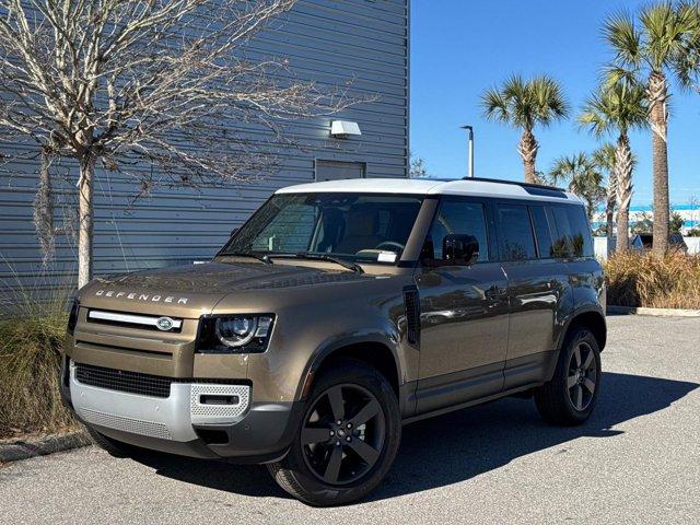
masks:
[[[605,264],[608,304],[700,310],[700,256],[618,254]]]

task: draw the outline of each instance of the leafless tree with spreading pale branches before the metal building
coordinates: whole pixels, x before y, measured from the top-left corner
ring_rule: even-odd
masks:
[[[0,0],[0,132],[77,161],[79,285],[92,278],[96,166],[140,191],[246,180],[293,142],[285,121],[352,103],[285,60],[245,58],[294,2]]]

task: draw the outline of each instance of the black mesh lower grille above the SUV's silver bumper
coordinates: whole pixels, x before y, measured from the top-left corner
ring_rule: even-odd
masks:
[[[151,397],[168,397],[173,382],[170,377],[161,377],[160,375],[103,369],[80,363],[75,364],[75,378],[83,385]]]

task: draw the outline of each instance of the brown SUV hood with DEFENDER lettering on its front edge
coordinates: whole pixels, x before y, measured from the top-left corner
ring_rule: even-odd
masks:
[[[237,291],[287,289],[372,279],[347,270],[260,262],[175,266],[94,279],[81,290],[88,307],[198,317]]]

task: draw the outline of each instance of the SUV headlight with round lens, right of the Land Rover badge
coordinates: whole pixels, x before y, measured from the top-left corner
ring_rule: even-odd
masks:
[[[200,353],[259,353],[267,350],[272,315],[202,317],[197,338]]]

